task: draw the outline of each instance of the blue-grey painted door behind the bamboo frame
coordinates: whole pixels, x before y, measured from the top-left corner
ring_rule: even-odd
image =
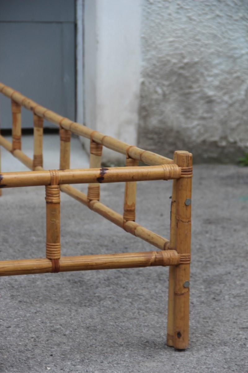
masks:
[[[74,0],[0,0],[0,81],[75,120]],[[0,110],[1,128],[11,128],[2,94]],[[32,128],[25,108],[22,128]]]

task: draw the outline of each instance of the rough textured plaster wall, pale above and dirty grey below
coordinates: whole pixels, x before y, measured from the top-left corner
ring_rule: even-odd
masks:
[[[195,161],[248,151],[248,1],[143,0],[139,146]]]

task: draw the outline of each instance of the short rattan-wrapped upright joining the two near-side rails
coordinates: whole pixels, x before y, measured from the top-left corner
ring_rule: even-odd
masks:
[[[46,185],[46,258],[52,261],[52,272],[59,272],[60,258],[60,189],[57,170],[50,170],[51,185]]]

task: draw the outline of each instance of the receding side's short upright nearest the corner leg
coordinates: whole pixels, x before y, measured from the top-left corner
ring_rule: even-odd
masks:
[[[126,166],[138,166],[139,161],[126,156]],[[123,219],[135,222],[136,181],[125,183]]]

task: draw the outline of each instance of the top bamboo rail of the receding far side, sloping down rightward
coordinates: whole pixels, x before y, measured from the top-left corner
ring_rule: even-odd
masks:
[[[14,100],[20,106],[23,106],[36,115],[48,120],[48,122],[61,126],[64,129],[68,129],[76,135],[83,136],[88,139],[92,138],[92,140],[98,144],[102,144],[106,148],[117,151],[118,153],[128,154],[129,157],[140,160],[146,164],[149,164],[150,166],[173,163],[173,160],[170,158],[126,144],[125,142],[116,140],[111,136],[103,135],[100,132],[94,131],[93,129],[90,129],[84,125],[72,122],[70,119],[58,115],[52,110],[48,110],[41,105],[38,105],[35,101],[30,100],[30,98],[25,97],[21,93],[13,90],[13,88],[10,88],[3,83],[0,83],[0,92],[6,97],[12,98],[12,100]]]

